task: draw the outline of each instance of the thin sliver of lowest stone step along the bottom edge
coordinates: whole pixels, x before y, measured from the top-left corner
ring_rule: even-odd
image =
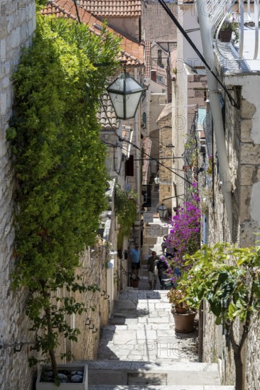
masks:
[[[89,390],[234,390],[234,386],[207,386],[207,385],[173,385],[173,386],[136,386],[136,385],[107,385],[107,384],[99,384],[99,385],[90,385]]]

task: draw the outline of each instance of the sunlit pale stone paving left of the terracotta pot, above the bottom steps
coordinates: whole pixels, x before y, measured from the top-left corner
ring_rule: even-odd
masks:
[[[98,360],[197,362],[197,330],[175,333],[167,291],[121,292],[102,329]]]

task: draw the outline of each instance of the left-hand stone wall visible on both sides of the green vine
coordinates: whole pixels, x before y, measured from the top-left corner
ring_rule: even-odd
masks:
[[[1,4],[0,21],[0,389],[31,390],[36,369],[28,367],[28,356],[35,353],[35,335],[29,330],[31,324],[25,314],[26,291],[13,292],[10,288],[10,274],[13,270],[13,239],[11,213],[13,209],[14,180],[11,172],[11,158],[5,133],[12,115],[13,91],[11,75],[20,61],[21,49],[31,43],[36,28],[34,2],[12,1]],[[97,355],[99,333],[112,311],[114,299],[119,290],[119,259],[110,255],[117,250],[117,228],[114,216],[114,184],[109,196],[109,210],[104,213],[103,233],[94,248],[88,248],[82,255],[82,269],[85,284],[97,284],[100,291],[84,294],[87,312],[76,318],[67,318],[71,325],[80,328],[77,344],[60,339],[60,352],[69,352],[75,359],[94,359]],[[109,283],[108,283],[109,280]],[[108,293],[109,286],[109,293]],[[66,294],[65,289],[59,294]],[[80,298],[80,297],[79,297]],[[59,359],[58,359],[59,360]]]

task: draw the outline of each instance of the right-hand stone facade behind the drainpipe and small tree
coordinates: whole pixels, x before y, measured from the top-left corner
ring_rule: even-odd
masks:
[[[221,69],[219,69],[221,72]],[[232,227],[227,223],[227,213],[215,166],[215,208],[209,212],[208,242],[218,241],[237,243],[239,247],[254,245],[260,227],[260,139],[258,123],[260,109],[256,99],[256,74],[233,74],[224,81],[235,99],[240,100],[239,111],[225,100],[225,135],[227,155],[232,178]],[[216,150],[216,149],[215,149]],[[236,323],[237,339],[242,325]],[[214,329],[212,331],[212,329]],[[221,336],[220,326],[216,327],[210,314],[205,315],[204,359],[212,362],[209,345],[214,343],[217,357],[221,360],[222,381],[234,383],[234,360],[229,341]],[[214,336],[214,337],[213,337]],[[214,341],[213,341],[214,340]],[[259,320],[252,321],[248,339],[243,351],[245,389],[260,389]]]

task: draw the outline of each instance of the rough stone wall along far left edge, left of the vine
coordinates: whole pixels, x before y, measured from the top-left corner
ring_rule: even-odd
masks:
[[[0,21],[0,389],[31,389],[32,371],[28,352],[33,336],[24,313],[26,294],[13,293],[9,287],[13,269],[13,230],[11,212],[13,177],[5,133],[12,114],[13,90],[11,75],[20,61],[21,49],[31,43],[36,28],[34,1],[1,3]],[[23,345],[18,343],[23,342]],[[20,352],[16,352],[20,350]]]

